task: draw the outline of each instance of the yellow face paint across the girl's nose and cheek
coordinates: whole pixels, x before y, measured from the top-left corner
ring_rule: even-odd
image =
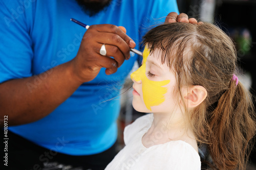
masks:
[[[170,80],[157,82],[147,79],[146,59],[148,55],[150,55],[150,51],[145,47],[143,51],[143,63],[140,68],[131,74],[131,79],[134,79],[135,81],[142,81],[143,100],[146,108],[152,111],[152,106],[157,106],[164,102],[164,94],[167,92],[167,88],[162,86],[168,84]]]

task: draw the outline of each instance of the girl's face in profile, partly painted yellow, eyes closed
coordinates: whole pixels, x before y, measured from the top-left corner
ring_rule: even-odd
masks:
[[[134,71],[133,107],[139,112],[170,112],[178,101],[174,100],[176,78],[174,72],[161,63],[161,50],[150,51],[145,47],[143,63]]]

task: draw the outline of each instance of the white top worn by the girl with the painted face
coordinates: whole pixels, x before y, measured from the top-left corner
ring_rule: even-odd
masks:
[[[105,170],[200,170],[197,151],[182,140],[144,147],[142,137],[151,127],[153,113],[139,117],[124,129],[125,147],[106,166]]]

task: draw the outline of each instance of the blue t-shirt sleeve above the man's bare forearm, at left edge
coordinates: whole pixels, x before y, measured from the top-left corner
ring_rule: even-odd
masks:
[[[0,83],[30,77],[32,40],[26,13],[30,8],[17,1],[0,1]]]

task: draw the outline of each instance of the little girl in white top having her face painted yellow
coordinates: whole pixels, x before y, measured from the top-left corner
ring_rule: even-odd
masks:
[[[125,128],[125,147],[106,169],[245,169],[254,112],[231,39],[210,23],[176,22],[153,28],[143,44],[133,107],[151,114]],[[200,161],[201,145],[210,162]]]

